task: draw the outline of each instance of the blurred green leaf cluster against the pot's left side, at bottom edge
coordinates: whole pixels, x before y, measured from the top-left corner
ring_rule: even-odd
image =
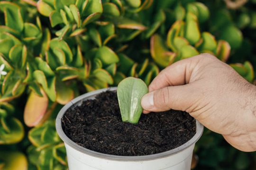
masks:
[[[32,143],[27,148],[28,160],[39,170],[67,169],[64,143],[55,130],[55,121],[47,121],[28,132]]]

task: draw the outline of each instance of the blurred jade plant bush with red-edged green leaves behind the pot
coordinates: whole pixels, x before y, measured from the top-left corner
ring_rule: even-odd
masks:
[[[225,6],[209,10],[207,3],[0,1],[0,144],[18,143],[27,134],[24,126],[32,128],[29,167],[65,169],[64,146],[53,123],[60,106],[129,76],[149,85],[161,69],[201,52],[224,62],[232,59],[243,39],[238,28],[253,28],[255,15],[247,10],[250,24],[239,24]],[[249,62],[231,66],[253,81]],[[0,166],[4,162],[0,158]]]

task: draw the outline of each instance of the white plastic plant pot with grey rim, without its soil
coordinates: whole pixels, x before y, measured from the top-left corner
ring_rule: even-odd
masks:
[[[198,121],[196,121],[196,134],[188,142],[170,151],[146,156],[116,156],[98,153],[69,139],[61,125],[61,118],[65,111],[107,90],[115,91],[116,87],[83,94],[67,103],[58,113],[56,129],[66,147],[69,170],[190,170],[195,142],[203,132],[203,126]]]

